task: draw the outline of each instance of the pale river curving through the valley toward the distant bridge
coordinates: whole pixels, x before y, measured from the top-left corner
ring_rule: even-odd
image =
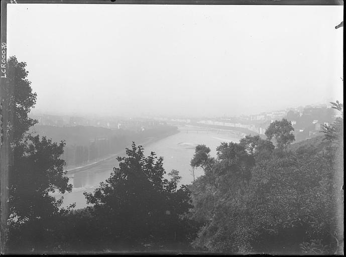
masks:
[[[144,152],[146,156],[150,155],[150,152],[155,152],[157,156],[162,156],[164,158],[163,166],[167,173],[172,169],[178,170],[182,177],[180,185],[190,184],[193,181],[190,160],[193,157],[195,146],[198,144],[206,145],[211,150],[210,155],[215,157],[216,147],[221,142],[239,142],[241,139],[239,133],[232,131],[204,131],[209,129],[188,125],[178,129],[181,131],[175,135],[145,145]],[[113,167],[119,167],[116,160],[117,156],[125,156],[125,151],[88,169],[68,174],[69,183],[73,185],[73,189],[71,193],[63,194],[64,203],[62,207],[66,207],[74,202],[76,203],[76,209],[86,207],[87,204],[83,192],[93,192],[100,182],[105,181],[109,177]],[[195,170],[195,178],[202,174],[203,171],[201,169]],[[166,178],[168,178],[167,174]],[[61,196],[59,193],[53,195],[56,197]]]

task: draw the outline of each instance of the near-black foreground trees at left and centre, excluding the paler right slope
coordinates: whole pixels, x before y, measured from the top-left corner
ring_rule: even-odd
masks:
[[[177,189],[181,177],[173,170],[164,179],[163,158],[154,153],[144,157],[141,146],[127,149],[118,158],[106,182],[93,194],[85,194],[94,206],[83,210],[60,208],[63,198],[51,193],[71,192],[60,159],[65,143],[27,133],[37,120],[28,117],[36,103],[27,80],[26,63],[8,60],[9,104],[13,166],[9,174],[7,252],[51,253],[61,251],[145,250],[165,246],[172,250],[188,247],[197,223],[188,218],[189,190]],[[11,90],[10,90],[11,89]],[[5,228],[2,227],[5,231]],[[2,234],[3,235],[3,234]],[[186,243],[187,242],[187,243]]]

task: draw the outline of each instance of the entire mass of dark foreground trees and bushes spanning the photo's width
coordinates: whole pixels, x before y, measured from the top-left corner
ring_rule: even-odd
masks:
[[[342,103],[331,103],[341,115],[313,140],[291,145],[293,127],[282,119],[269,126],[267,139],[248,135],[240,143],[221,143],[216,157],[197,146],[190,164],[204,175],[179,188],[177,170],[166,179],[163,158],[153,152],[146,157],[133,143],[117,158],[119,168],[85,193],[92,206],[63,209],[63,199],[50,193],[72,189],[61,159],[65,142],[28,133],[37,122],[28,117],[36,94],[26,64],[11,57],[8,65],[14,90],[4,108],[12,111],[15,129],[9,215],[2,227],[9,232],[7,253],[342,254]]]

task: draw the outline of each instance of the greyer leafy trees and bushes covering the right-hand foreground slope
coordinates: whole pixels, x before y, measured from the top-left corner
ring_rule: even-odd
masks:
[[[289,127],[287,120],[282,123]],[[196,147],[191,165],[205,174],[190,186],[193,217],[203,222],[194,247],[227,253],[342,252],[336,182],[342,177],[337,173],[341,124],[340,119],[332,124],[325,137],[329,143],[318,150],[284,151],[292,137],[289,130],[280,132],[280,121],[267,140],[247,136],[239,144],[222,143],[217,158],[206,146]],[[269,141],[273,131],[276,149]]]

